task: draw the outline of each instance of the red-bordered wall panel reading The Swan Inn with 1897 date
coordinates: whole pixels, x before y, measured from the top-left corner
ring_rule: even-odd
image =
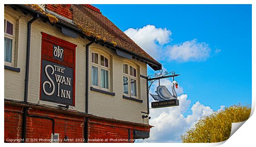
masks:
[[[74,106],[77,45],[41,34],[40,100]]]

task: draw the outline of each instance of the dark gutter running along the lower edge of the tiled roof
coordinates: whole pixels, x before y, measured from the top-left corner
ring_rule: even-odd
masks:
[[[45,21],[49,21],[48,17],[45,16],[44,14],[40,13],[40,12],[37,12],[36,10],[33,10],[33,9],[30,9],[29,7],[26,7],[22,4],[16,4],[16,5],[11,5],[12,7],[15,7],[17,9],[22,9],[22,11],[25,11],[27,13],[32,13],[32,14],[38,14],[40,16],[40,19],[43,19]],[[83,36],[83,37],[86,37],[88,38],[88,40],[95,40],[95,38],[93,37],[90,37],[90,36],[85,36],[82,32],[82,30],[76,28],[75,26],[72,26],[72,25],[68,25],[62,21],[58,21],[57,23],[55,23],[54,25],[56,26],[59,26],[59,27],[64,27],[64,28],[68,28],[69,30],[72,30],[76,33],[78,33],[79,35]],[[113,46],[113,44],[111,42],[104,42],[102,40],[97,40],[97,42],[101,43],[101,44],[104,44],[106,45],[107,47],[111,47],[113,49],[117,49],[117,50],[120,50],[120,51],[125,51],[131,55],[133,55],[135,58],[139,58],[145,62],[147,62],[148,64],[151,64],[149,65],[153,70],[160,70],[162,68],[162,65],[161,63],[158,63],[157,61],[153,61],[149,58],[145,58],[144,56],[141,56],[141,55],[138,55],[138,54],[135,54],[134,52],[132,51],[129,51],[128,49],[125,49],[123,47],[120,47],[120,46]]]

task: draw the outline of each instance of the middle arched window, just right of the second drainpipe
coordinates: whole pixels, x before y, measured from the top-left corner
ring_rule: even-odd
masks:
[[[101,53],[92,53],[92,85],[109,91],[109,58]]]

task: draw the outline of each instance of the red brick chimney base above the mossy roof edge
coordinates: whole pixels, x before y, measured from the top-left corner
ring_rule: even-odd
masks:
[[[73,10],[70,4],[46,4],[45,7],[52,12],[73,20]]]

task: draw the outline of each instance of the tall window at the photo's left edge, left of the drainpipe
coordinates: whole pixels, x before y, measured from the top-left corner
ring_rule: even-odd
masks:
[[[14,38],[15,38],[15,20],[5,16],[5,65],[14,65]]]

